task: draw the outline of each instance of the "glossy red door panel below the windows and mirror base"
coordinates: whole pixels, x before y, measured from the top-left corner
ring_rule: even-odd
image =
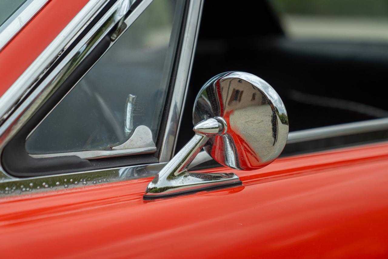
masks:
[[[140,179],[0,200],[2,257],[388,257],[388,143],[276,160],[145,202]],[[217,169],[227,172],[233,170]]]

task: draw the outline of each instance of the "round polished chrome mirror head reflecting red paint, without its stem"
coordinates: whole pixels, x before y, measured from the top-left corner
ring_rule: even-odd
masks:
[[[255,170],[274,161],[288,137],[288,116],[279,95],[258,76],[226,72],[206,82],[194,103],[193,123],[214,117],[226,122],[205,151],[218,163]]]

